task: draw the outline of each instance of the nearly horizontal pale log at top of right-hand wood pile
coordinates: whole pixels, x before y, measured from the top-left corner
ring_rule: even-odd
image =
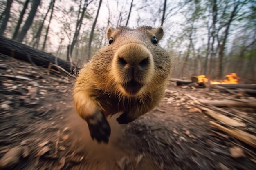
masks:
[[[236,100],[205,100],[205,99],[200,99],[198,100],[201,104],[210,106],[216,106],[216,107],[239,107],[239,106],[244,106],[244,107],[250,107],[250,108],[256,108],[256,100],[246,100],[246,99],[236,99]]]

